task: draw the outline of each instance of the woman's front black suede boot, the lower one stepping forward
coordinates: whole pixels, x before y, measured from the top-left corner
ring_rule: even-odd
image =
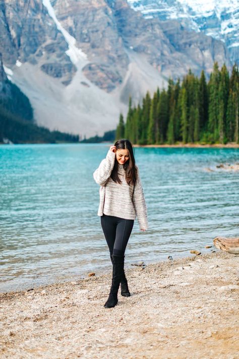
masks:
[[[112,308],[118,302],[117,293],[120,287],[121,278],[124,270],[124,257],[116,257],[113,255],[113,273],[112,273],[112,284],[109,292],[109,297],[104,304],[105,308]]]

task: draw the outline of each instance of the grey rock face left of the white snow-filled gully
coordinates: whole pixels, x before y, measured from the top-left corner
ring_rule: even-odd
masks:
[[[5,0],[0,5],[0,52],[9,67],[30,62],[45,69],[58,63],[61,70],[48,70],[50,76],[72,79],[75,67],[65,54],[68,45],[40,0]],[[55,65],[53,66],[55,67]],[[57,66],[56,66],[57,67]]]

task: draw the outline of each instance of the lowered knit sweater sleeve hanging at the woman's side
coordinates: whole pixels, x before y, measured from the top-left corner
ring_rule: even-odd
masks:
[[[147,219],[147,208],[144,198],[143,187],[141,184],[140,173],[137,167],[137,181],[135,184],[135,190],[133,195],[133,203],[136,211],[136,216],[138,218],[140,229],[148,229],[148,219]]]

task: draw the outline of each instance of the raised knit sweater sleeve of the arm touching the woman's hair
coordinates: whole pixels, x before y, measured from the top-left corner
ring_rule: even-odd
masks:
[[[114,160],[115,153],[108,150],[106,158],[101,161],[99,167],[93,173],[95,182],[100,186],[104,186],[107,182],[114,166]]]

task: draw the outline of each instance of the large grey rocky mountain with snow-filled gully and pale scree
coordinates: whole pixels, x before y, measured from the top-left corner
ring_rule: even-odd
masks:
[[[175,20],[146,19],[126,0],[4,0],[0,52],[37,123],[92,136],[115,128],[129,95],[166,86],[189,68],[230,67],[222,41]]]

